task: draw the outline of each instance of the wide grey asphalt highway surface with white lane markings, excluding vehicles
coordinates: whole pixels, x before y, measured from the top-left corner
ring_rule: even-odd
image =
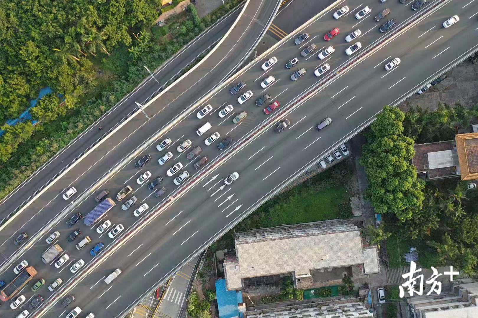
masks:
[[[422,11],[429,10],[435,3],[441,1],[430,2],[429,8],[425,7]],[[343,1],[338,7],[345,3]],[[131,304],[141,299],[142,291],[151,289],[150,287],[168,277],[179,264],[209,244],[217,234],[225,231],[233,222],[260,205],[315,159],[328,153],[332,149],[331,146],[356,133],[380,111],[384,104],[401,101],[430,79],[433,80],[440,75],[440,70],[465,58],[466,51],[473,51],[473,48],[476,50],[474,43],[478,25],[473,13],[478,11],[478,5],[470,2],[464,7],[465,4],[460,1],[446,2],[423,21],[387,42],[380,50],[356,62],[348,71],[342,71],[338,76],[324,82],[328,77],[332,77],[334,72],[342,69],[363,51],[368,51],[387,36],[377,30],[380,24],[373,21],[373,16],[379,10],[387,6],[391,8],[390,18],[396,19],[399,24],[396,28],[400,28],[400,24],[408,23],[422,13],[420,10],[412,12],[409,6],[398,3],[393,5],[389,3],[385,6],[371,0],[365,1],[360,6],[349,3],[350,13],[337,21],[331,18],[332,12],[337,8],[328,11],[300,30],[311,34],[309,41],[298,46],[293,44],[293,39],[284,41],[266,57],[252,63],[236,76],[235,81],[242,80],[247,83],[247,89],[254,93],[253,98],[239,105],[236,101],[237,95],[230,95],[229,87],[222,88],[196,108],[197,111],[208,103],[213,105],[213,112],[204,119],[198,120],[196,111],[191,112],[185,120],[175,124],[165,134],[156,136],[154,143],[147,145],[141,154],[150,153],[153,160],[141,171],[134,168],[132,160],[107,180],[102,180],[101,188],[109,188],[112,194],[129,184],[133,186],[134,195],[138,197],[138,203],[130,210],[124,212],[117,205],[106,217],[115,225],[121,223],[125,226],[122,235],[114,240],[106,235],[99,237],[94,227],[89,229],[80,225],[79,228],[83,231],[80,237],[90,235],[93,243],[78,252],[74,247],[71,248],[73,244],[69,246],[66,244],[65,237],[69,232],[64,225],[65,218],[59,217],[59,223],[54,228],[61,232],[60,242],[64,242],[62,246],[68,246],[65,249],[70,255],[69,262],[82,258],[86,261],[86,266],[90,266],[91,273],[85,275],[86,277],[81,280],[78,277],[70,278],[74,275],[69,273],[67,267],[72,264],[65,265],[63,270],[63,267],[56,270],[54,267],[43,266],[39,256],[46,248],[46,243],[42,241],[50,234],[49,232],[42,236],[39,244],[34,244],[24,254],[25,256],[15,259],[13,263],[27,258],[32,264],[38,264],[41,275],[39,277],[44,277],[47,284],[60,276],[64,278],[65,286],[72,282],[77,284],[71,291],[76,296],[73,305],[82,307],[85,315],[89,311],[94,311],[100,317],[118,317]],[[365,5],[369,5],[372,12],[360,21],[356,20],[355,13]],[[460,16],[460,21],[448,29],[443,29],[441,23],[454,14]],[[340,29],[340,34],[333,40],[325,42],[324,34],[335,27]],[[346,43],[344,38],[358,28],[362,31],[362,36],[358,39],[362,43],[362,49],[356,56],[348,57],[344,51],[350,44]],[[309,43],[315,43],[319,50],[308,57],[300,57],[302,46]],[[317,59],[317,53],[328,45],[333,45],[336,51],[321,62]],[[260,65],[272,55],[277,57],[278,62],[267,72],[262,71]],[[292,71],[285,70],[283,67],[285,62],[296,56],[299,57],[299,64]],[[384,65],[394,57],[399,57],[402,62],[393,71],[386,72]],[[331,70],[322,75],[323,77],[316,78],[313,75],[314,69],[325,62],[330,64]],[[291,82],[291,73],[302,67],[307,73],[296,82]],[[268,75],[273,75],[276,81],[264,90],[260,82]],[[314,94],[309,94],[307,98],[297,103],[305,92],[321,84],[323,84],[321,88]],[[271,94],[272,100],[277,99],[281,103],[281,108],[269,116],[263,113],[262,107],[254,105],[255,98],[266,92]],[[236,114],[245,110],[249,116],[238,125],[231,122],[232,117],[220,119],[217,112],[229,103],[234,106]],[[279,120],[278,116],[290,120],[291,126],[281,133],[274,133],[272,126]],[[324,131],[317,132],[315,125],[325,117],[330,117],[332,124]],[[197,136],[196,128],[206,121],[212,124],[211,130],[203,136]],[[223,152],[217,150],[217,142],[206,146],[204,139],[216,131],[221,134],[220,139],[230,135],[235,143]],[[252,132],[257,133],[250,137]],[[174,142],[166,150],[171,151],[174,157],[167,164],[160,166],[155,161],[166,151],[158,153],[155,145],[165,137],[170,137]],[[209,163],[197,172],[192,168],[192,161],[185,158],[185,153],[179,154],[175,149],[179,142],[187,138],[191,139],[193,146],[200,145],[203,148],[201,155],[209,158]],[[173,178],[165,174],[166,169],[177,162],[183,163],[185,165],[183,170],[191,174],[185,181],[187,189],[176,187]],[[212,166],[215,169],[210,172]],[[151,171],[152,177],[163,176],[163,185],[171,197],[158,200],[152,196],[146,185],[135,184],[135,179],[146,170]],[[220,188],[222,179],[234,171],[239,173],[239,180]],[[205,173],[208,175],[203,180],[189,184]],[[216,175],[217,177],[210,181]],[[80,193],[77,196],[79,197]],[[68,212],[89,211],[95,205],[93,196],[82,195],[84,198],[77,202],[75,209]],[[123,202],[124,200],[121,203]],[[163,209],[161,214],[152,216],[155,208],[165,202],[169,207]],[[140,203],[147,203],[150,209],[137,218],[132,215],[132,211]],[[124,239],[124,234],[139,223],[143,224],[142,227],[138,228],[128,240]],[[106,246],[112,246],[110,248],[114,253],[98,265],[98,261],[104,256],[100,254],[92,259],[88,250],[99,241],[104,242]],[[122,269],[122,274],[111,287],[106,286],[102,278],[116,267]],[[11,271],[11,267],[8,271]],[[7,272],[2,272],[1,275],[6,276],[6,280],[13,277],[12,273]],[[43,287],[43,294],[49,297],[51,293],[45,289],[46,287]],[[29,299],[34,294],[25,290],[25,296]],[[47,299],[47,302],[51,302],[51,298]],[[72,308],[70,307],[69,310]],[[47,317],[62,317],[65,315],[64,310],[56,304],[47,313]],[[18,312],[19,310],[15,314]],[[13,317],[12,311],[10,314]]]

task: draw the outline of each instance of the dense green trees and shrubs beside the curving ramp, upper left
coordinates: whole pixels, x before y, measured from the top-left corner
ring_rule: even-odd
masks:
[[[158,0],[60,2],[0,0],[0,199],[131,92],[144,65],[158,68],[240,1],[202,19],[189,5],[163,27],[152,26]],[[40,123],[3,124],[45,86],[54,93],[30,112]]]

